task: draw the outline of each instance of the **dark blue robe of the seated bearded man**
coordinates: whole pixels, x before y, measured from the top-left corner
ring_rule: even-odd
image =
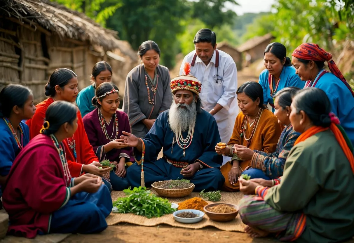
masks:
[[[225,179],[220,172],[222,156],[215,152],[215,145],[220,142],[220,135],[215,118],[202,110],[197,114],[192,144],[183,149],[175,142],[172,149],[173,132],[168,122],[169,110],[162,112],[156,119],[153,127],[144,138],[144,178],[145,186],[150,187],[156,181],[183,179],[181,168],[168,163],[166,158],[174,162],[187,162],[192,164],[200,162],[203,169],[197,171],[193,177],[186,178],[194,183],[194,191],[215,191],[221,188]],[[186,137],[188,131],[183,133]],[[157,159],[163,147],[164,157]],[[141,159],[141,153],[134,149],[134,156]],[[127,169],[127,179],[133,187],[140,186],[141,165],[137,163]]]

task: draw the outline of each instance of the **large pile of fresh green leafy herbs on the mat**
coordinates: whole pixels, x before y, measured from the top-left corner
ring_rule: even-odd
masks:
[[[114,213],[133,213],[147,218],[161,217],[171,214],[176,209],[171,208],[168,199],[160,198],[155,194],[146,191],[146,187],[131,187],[123,190],[127,197],[118,198],[113,202]]]

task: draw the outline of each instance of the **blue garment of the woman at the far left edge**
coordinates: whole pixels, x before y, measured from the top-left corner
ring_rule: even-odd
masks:
[[[21,122],[19,124],[23,131],[23,147],[29,142],[28,126]],[[21,142],[21,141],[20,141]],[[11,165],[15,161],[17,154],[20,152],[15,137],[13,137],[10,128],[4,119],[0,118],[0,175],[7,176],[10,172]],[[0,197],[2,190],[0,190]]]

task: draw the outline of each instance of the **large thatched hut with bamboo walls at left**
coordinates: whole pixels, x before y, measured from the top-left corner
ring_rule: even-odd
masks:
[[[0,90],[10,83],[27,85],[40,102],[59,67],[74,70],[83,88],[93,64],[120,48],[117,34],[48,0],[0,0]]]

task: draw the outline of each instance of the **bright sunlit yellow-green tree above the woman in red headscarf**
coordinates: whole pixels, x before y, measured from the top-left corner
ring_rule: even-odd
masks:
[[[245,37],[271,32],[288,50],[303,42],[331,49],[337,18],[327,0],[276,0],[273,13],[256,19]]]

